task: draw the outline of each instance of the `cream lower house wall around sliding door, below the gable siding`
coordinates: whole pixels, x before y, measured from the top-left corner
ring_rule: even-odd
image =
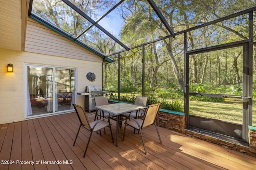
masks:
[[[7,72],[7,64],[12,63],[13,72]],[[25,64],[40,64],[45,66],[60,66],[63,68],[76,68],[76,92],[84,92],[85,86],[102,85],[102,61],[93,62],[67,57],[57,57],[40,53],[31,53],[0,48],[0,124],[24,120]],[[96,74],[96,80],[90,82],[86,78],[88,72]],[[84,107],[84,96],[77,96],[77,104]]]

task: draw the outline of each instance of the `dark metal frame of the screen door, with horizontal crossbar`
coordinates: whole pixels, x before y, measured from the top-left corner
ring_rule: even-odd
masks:
[[[185,34],[186,35],[186,34]],[[185,36],[186,40],[186,36]],[[200,96],[208,96],[208,97],[221,97],[218,94],[196,94],[189,92],[189,56],[199,53],[206,53],[210,51],[217,51],[221,49],[228,49],[233,47],[243,47],[243,95],[240,96],[242,98],[243,105],[243,125],[242,125],[242,139],[249,142],[248,137],[248,125],[252,125],[252,48],[251,40],[246,39],[243,41],[236,41],[233,43],[227,43],[222,45],[216,45],[212,47],[206,47],[202,49],[196,49],[191,51],[185,50],[185,61],[184,61],[184,112],[186,113],[186,126],[190,127],[190,115],[189,115],[189,96],[191,95],[200,95]],[[185,47],[186,49],[186,47]],[[230,95],[229,95],[230,96]],[[224,97],[224,96],[222,96]],[[239,98],[238,95],[234,95],[233,97]]]

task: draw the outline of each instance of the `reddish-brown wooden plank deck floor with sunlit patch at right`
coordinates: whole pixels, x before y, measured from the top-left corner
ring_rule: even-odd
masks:
[[[158,127],[163,142],[160,145],[154,126],[144,129],[147,155],[140,135],[133,134],[130,127],[122,142],[123,126],[118,147],[111,142],[109,128],[106,128],[106,134],[102,133],[102,136],[93,134],[83,158],[89,132],[81,129],[73,147],[78,127],[76,113],[0,125],[0,160],[12,161],[12,164],[1,162],[0,170],[256,169],[253,156]],[[115,140],[114,121],[112,131]]]

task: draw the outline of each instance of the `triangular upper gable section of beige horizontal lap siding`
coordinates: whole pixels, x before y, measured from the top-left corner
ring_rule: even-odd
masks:
[[[102,58],[61,34],[28,18],[25,51],[102,62]]]

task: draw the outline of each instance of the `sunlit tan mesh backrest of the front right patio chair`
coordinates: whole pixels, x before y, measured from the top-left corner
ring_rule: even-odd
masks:
[[[162,103],[148,105],[141,128],[155,123],[161,105]]]

